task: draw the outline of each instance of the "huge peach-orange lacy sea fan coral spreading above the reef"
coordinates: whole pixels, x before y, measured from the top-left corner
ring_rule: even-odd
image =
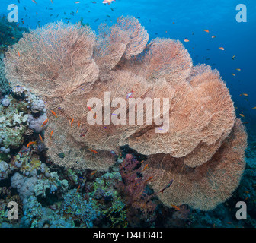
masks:
[[[45,142],[54,163],[106,171],[114,164],[112,150],[128,144],[149,156],[150,185],[164,204],[211,210],[242,177],[245,128],[218,71],[193,65],[177,40],[148,41],[134,17],[101,24],[97,34],[80,24],[48,24],[8,48],[6,77],[46,102]],[[102,103],[88,107],[90,98]],[[110,106],[115,98],[123,98],[123,106]],[[146,98],[168,99],[169,106],[152,107],[154,118],[168,119],[166,131],[156,132],[163,129],[155,120],[146,124],[145,109],[139,115]],[[107,124],[110,117],[119,124]]]

